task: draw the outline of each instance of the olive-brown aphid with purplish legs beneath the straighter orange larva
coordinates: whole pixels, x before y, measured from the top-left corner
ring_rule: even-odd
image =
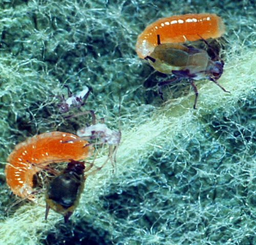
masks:
[[[157,35],[157,39],[158,46],[150,56],[146,56],[145,59],[155,70],[164,74],[173,74],[176,76],[173,80],[160,82],[158,84],[158,90],[161,97],[162,93],[160,91],[160,86],[174,81],[180,81],[183,78],[188,79],[196,94],[194,109],[196,109],[198,98],[198,91],[194,84],[194,80],[206,78],[216,83],[224,92],[230,93],[217,82],[223,73],[224,61],[203,38],[203,41],[214,52],[215,57],[209,57],[205,50],[184,46],[183,44],[161,44],[159,35]],[[217,60],[215,60],[216,58]]]

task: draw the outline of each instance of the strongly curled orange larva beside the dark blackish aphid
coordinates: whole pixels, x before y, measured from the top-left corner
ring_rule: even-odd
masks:
[[[35,173],[50,163],[90,157],[94,148],[86,146],[88,144],[86,140],[79,140],[72,133],[59,131],[29,138],[17,144],[8,156],[5,167],[6,182],[14,194],[29,198]]]

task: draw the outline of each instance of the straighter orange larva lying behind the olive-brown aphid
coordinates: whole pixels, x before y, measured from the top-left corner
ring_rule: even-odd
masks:
[[[161,43],[182,43],[195,41],[201,37],[217,38],[224,32],[222,18],[216,14],[184,14],[160,18],[148,25],[138,36],[136,52],[141,59],[150,55],[158,45],[157,35],[161,37]]]

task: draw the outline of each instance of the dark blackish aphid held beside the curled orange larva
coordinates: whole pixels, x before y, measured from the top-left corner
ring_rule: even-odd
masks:
[[[46,219],[49,209],[64,216],[65,223],[79,204],[86,176],[84,162],[71,160],[66,169],[54,177],[46,190]]]

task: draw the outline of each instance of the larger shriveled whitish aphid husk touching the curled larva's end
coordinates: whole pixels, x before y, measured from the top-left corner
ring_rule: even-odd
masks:
[[[120,106],[119,106],[120,110]],[[104,119],[101,118],[99,121],[96,122],[95,114],[93,110],[88,110],[83,113],[78,113],[75,115],[68,116],[69,117],[76,117],[81,116],[84,114],[91,114],[92,116],[92,125],[83,127],[77,131],[77,136],[80,137],[79,139],[82,140],[94,140],[99,139],[99,141],[91,143],[90,145],[99,145],[99,144],[109,144],[109,156],[108,159],[111,159],[111,163],[114,168],[114,163],[116,162],[116,150],[120,144],[121,140],[121,130],[119,125],[119,131],[112,130],[106,126],[104,123]],[[120,124],[120,123],[119,123]],[[114,160],[113,160],[114,155]]]

